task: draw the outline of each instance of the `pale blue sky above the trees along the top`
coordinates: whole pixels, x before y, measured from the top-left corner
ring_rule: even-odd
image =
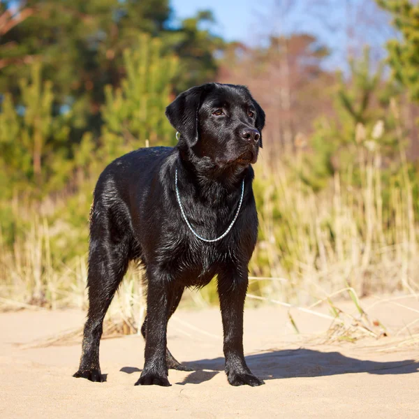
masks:
[[[295,8],[281,22],[278,4],[295,3]],[[182,19],[198,10],[212,10],[215,34],[227,41],[242,41],[249,45],[263,43],[270,34],[304,32],[312,34],[332,50],[325,63],[329,68],[341,67],[346,61],[346,24],[355,28],[358,46],[373,44],[378,58],[385,54],[384,43],[394,36],[387,24],[388,17],[377,8],[374,0],[352,0],[348,13],[344,0],[328,0],[325,6],[314,0],[171,0],[175,17]],[[369,23],[369,19],[374,22]],[[345,66],[345,64],[343,64]]]

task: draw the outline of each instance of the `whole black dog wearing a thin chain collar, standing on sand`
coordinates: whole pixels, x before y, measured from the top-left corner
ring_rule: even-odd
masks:
[[[128,153],[110,163],[96,184],[89,313],[74,376],[103,381],[103,318],[128,262],[140,260],[147,316],[141,330],[145,366],[136,384],[170,385],[169,368],[186,370],[166,348],[168,320],[184,287],[205,286],[215,275],[228,382],[263,384],[246,365],[242,337],[248,264],[258,233],[251,163],[262,147],[265,113],[246,87],[209,83],[177,96],[166,116],[179,133],[176,147]]]

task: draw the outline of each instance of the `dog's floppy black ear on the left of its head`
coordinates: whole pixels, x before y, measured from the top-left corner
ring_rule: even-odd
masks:
[[[179,94],[166,108],[166,117],[170,124],[186,141],[189,147],[198,141],[198,112],[205,85],[191,87]]]

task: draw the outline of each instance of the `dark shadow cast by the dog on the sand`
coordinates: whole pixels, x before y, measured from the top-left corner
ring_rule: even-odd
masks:
[[[339,352],[321,352],[312,349],[293,349],[289,351],[269,351],[246,357],[247,365],[256,376],[263,380],[295,377],[331,376],[337,374],[411,374],[419,372],[418,360],[376,362],[358,360],[342,355]],[[184,362],[191,372],[177,384],[199,384],[210,380],[224,369],[224,358]],[[132,374],[141,370],[135,367],[124,367],[122,372]]]

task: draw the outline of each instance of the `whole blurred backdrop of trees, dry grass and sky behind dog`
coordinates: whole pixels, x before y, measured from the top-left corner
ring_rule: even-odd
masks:
[[[251,298],[419,292],[418,3],[276,0],[243,31],[167,0],[0,1],[0,302],[85,306],[98,175],[175,145],[166,105],[210,81],[267,114]],[[115,303],[133,330],[140,276]],[[188,301],[216,302],[214,284]]]

